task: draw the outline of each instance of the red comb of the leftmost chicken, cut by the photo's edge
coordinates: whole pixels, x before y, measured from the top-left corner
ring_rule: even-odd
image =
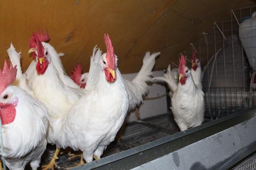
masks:
[[[3,70],[0,69],[0,93],[2,93],[8,85],[12,84],[16,79],[17,65],[12,67],[12,62],[10,62],[10,68],[6,60],[4,60]]]

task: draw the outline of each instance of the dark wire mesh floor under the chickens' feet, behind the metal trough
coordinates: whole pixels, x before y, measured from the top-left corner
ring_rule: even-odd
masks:
[[[179,131],[172,114],[166,113],[159,116],[150,117],[137,122],[128,123],[123,133],[122,139],[119,142],[112,142],[107,150],[103,153],[102,157],[112,155],[114,153],[128,150],[130,148],[152,142],[157,139],[169,136]],[[55,145],[47,145],[47,150],[42,156],[41,165],[49,163],[55,151]],[[80,158],[70,160],[68,153],[79,153],[74,152],[70,148],[61,150],[56,163],[59,169],[69,168],[76,166],[79,163]],[[30,167],[27,166],[26,169]],[[57,168],[56,168],[57,169]]]

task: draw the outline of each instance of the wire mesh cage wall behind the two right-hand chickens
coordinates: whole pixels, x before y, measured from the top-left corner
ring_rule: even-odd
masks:
[[[184,51],[187,56],[197,51],[203,65],[206,119],[218,119],[256,105],[256,46],[252,45],[256,44],[256,25],[251,20],[255,11],[256,6],[230,11],[230,20],[213,23],[209,32],[190,44],[192,50]],[[243,29],[249,29],[250,34],[241,34]],[[172,67],[177,64],[172,63]]]

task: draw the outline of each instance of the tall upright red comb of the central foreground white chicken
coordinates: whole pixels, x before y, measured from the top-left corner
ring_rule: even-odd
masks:
[[[107,48],[106,59],[108,61],[108,67],[114,70],[116,68],[116,57],[114,54],[114,48],[108,34],[104,34],[104,41]]]

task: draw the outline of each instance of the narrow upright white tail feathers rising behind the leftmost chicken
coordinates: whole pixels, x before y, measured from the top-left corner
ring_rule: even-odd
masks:
[[[12,62],[12,65],[17,65],[16,80],[17,80],[18,86],[20,88],[23,88],[30,95],[34,96],[34,92],[29,89],[26,83],[26,77],[27,77],[26,73],[22,74],[22,70],[20,67],[20,53],[17,53],[12,43],[10,48],[7,50],[7,53],[10,57],[10,61]]]

